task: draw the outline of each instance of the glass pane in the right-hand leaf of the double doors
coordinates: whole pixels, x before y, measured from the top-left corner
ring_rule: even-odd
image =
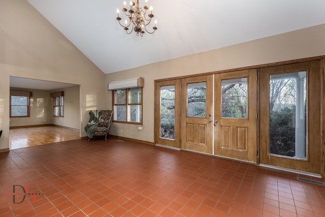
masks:
[[[221,117],[247,118],[247,78],[221,81]]]

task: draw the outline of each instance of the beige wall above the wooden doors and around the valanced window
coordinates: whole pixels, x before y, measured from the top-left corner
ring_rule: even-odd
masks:
[[[111,81],[144,77],[143,130],[137,125],[113,123],[110,134],[138,140],[154,140],[154,80],[275,63],[325,55],[325,24],[234,46],[183,56],[147,66],[106,75]],[[106,86],[107,87],[107,86]],[[106,89],[107,107],[112,94]]]

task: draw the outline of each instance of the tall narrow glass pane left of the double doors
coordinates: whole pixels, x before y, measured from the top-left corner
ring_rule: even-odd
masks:
[[[160,138],[175,139],[175,85],[160,87]]]

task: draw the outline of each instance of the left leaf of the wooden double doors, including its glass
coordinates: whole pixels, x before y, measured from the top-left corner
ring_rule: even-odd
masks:
[[[181,147],[212,154],[213,75],[182,79]]]

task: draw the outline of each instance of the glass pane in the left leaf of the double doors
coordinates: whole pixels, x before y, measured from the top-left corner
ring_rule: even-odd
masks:
[[[187,116],[206,117],[206,82],[187,84]]]

